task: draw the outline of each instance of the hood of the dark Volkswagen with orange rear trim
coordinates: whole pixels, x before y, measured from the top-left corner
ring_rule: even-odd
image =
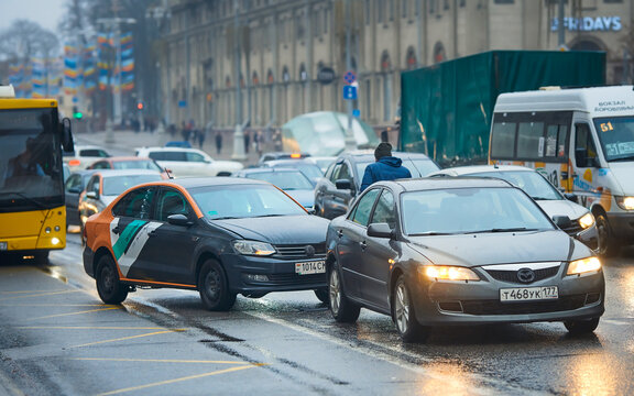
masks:
[[[243,239],[272,244],[323,243],[329,221],[317,216],[276,216],[211,220]]]

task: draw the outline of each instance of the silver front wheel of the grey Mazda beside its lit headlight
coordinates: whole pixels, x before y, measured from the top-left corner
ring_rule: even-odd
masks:
[[[423,341],[428,336],[428,329],[418,323],[412,304],[411,293],[401,274],[392,292],[392,316],[396,330],[404,342]]]

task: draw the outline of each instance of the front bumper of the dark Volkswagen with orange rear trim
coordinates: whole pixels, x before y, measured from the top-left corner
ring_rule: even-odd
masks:
[[[223,264],[229,288],[244,296],[263,296],[272,292],[293,292],[326,288],[326,273],[298,275],[295,264],[299,262],[324,261],[325,257],[280,260],[239,254],[225,254]],[[324,265],[325,268],[325,265]],[[255,280],[249,275],[263,275],[266,279]]]

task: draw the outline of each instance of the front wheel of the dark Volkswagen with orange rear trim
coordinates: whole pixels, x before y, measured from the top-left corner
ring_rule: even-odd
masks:
[[[198,274],[198,292],[205,307],[212,311],[231,309],[236,304],[236,294],[229,292],[229,282],[225,270],[215,260],[207,260]]]

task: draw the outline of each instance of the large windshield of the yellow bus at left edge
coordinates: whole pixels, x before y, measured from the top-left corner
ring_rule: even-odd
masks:
[[[64,169],[54,109],[0,111],[0,210],[64,205]]]

